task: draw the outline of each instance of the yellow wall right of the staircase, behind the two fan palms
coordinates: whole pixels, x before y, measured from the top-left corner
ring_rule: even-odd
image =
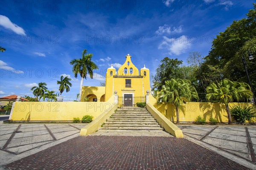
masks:
[[[153,105],[160,113],[162,113],[167,119],[176,122],[176,110],[175,106],[169,103],[157,104],[157,100],[149,95],[149,102]],[[229,107],[239,104],[241,107],[252,106],[251,103],[229,103]],[[253,112],[256,112],[256,108]],[[193,122],[197,116],[202,116],[206,122],[209,122],[209,118],[213,117],[218,122],[228,122],[227,111],[225,105],[222,103],[211,103],[211,102],[187,102],[183,105],[183,109],[179,109],[180,122]],[[235,120],[232,117],[232,122]],[[248,122],[248,121],[246,121]],[[256,122],[256,117],[252,118],[249,122]]]

